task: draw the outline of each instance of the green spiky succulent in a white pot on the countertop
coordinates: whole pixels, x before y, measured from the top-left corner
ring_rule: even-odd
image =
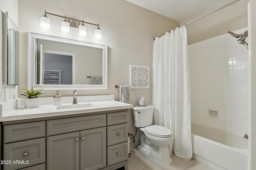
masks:
[[[34,86],[31,87],[30,90],[24,89],[22,88],[22,90],[24,91],[20,91],[24,94],[20,94],[22,96],[26,96],[27,98],[25,98],[25,107],[26,108],[33,108],[33,107],[39,107],[39,97],[43,97],[44,92],[42,90],[44,89],[40,89],[40,90],[33,90]]]

